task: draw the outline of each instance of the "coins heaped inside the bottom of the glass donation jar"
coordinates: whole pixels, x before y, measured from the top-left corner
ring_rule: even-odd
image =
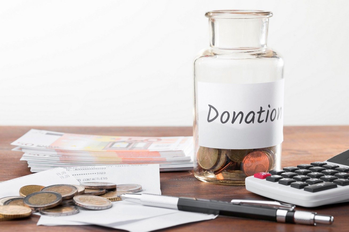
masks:
[[[199,171],[218,175],[223,171],[251,176],[267,172],[274,166],[277,146],[261,149],[216,149],[199,147],[197,154]]]

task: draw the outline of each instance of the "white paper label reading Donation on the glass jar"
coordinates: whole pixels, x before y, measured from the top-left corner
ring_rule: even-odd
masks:
[[[253,84],[198,82],[199,146],[254,149],[283,141],[284,79]]]

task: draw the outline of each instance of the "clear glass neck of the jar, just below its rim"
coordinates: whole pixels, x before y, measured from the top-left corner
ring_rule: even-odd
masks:
[[[267,46],[269,18],[209,18],[210,46],[258,49]]]

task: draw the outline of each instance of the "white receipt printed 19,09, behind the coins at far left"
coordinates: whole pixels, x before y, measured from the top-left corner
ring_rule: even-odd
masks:
[[[1,182],[0,198],[19,196],[20,188],[30,184],[49,186],[53,184],[79,184],[79,182],[64,168],[53,168]]]

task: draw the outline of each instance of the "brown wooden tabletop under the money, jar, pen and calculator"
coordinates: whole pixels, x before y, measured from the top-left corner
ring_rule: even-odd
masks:
[[[20,161],[21,152],[14,152],[10,143],[31,128],[80,134],[129,136],[190,136],[191,127],[0,127],[0,181],[30,174],[27,162]],[[282,146],[282,166],[293,166],[311,161],[324,161],[349,149],[349,126],[285,127]],[[187,196],[230,201],[231,199],[261,199],[245,190],[244,186],[227,186],[198,181],[193,171],[160,173],[164,195]],[[1,189],[0,189],[1,191]],[[166,231],[348,231],[349,203],[302,210],[316,211],[334,216],[331,226],[306,226],[256,221],[218,216],[216,219],[174,226]],[[0,231],[108,231],[100,226],[36,226],[38,216],[16,221],[0,222]]]

